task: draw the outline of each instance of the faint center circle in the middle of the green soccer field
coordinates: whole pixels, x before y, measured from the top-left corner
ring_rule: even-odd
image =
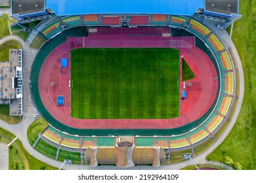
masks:
[[[116,78],[116,88],[121,93],[129,93],[135,87],[135,80],[131,75],[123,74]]]

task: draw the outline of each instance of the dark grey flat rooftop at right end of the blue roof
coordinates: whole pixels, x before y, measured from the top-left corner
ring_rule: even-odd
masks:
[[[239,0],[205,0],[205,10],[221,14],[238,14]]]

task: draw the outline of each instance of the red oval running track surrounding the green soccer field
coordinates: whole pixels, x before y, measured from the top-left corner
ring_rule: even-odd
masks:
[[[171,37],[136,37],[135,39],[125,39],[121,36],[108,37],[111,39],[110,45],[106,41],[106,37],[98,37],[96,39],[99,42],[95,41],[94,37],[83,37],[76,39],[77,42],[71,44],[70,39],[63,44],[60,44],[56,47],[49,56],[45,59],[39,73],[39,93],[41,100],[47,108],[48,112],[59,122],[64,125],[68,125],[74,128],[81,129],[171,129],[176,127],[181,127],[182,125],[189,124],[194,120],[197,120],[207,110],[211,107],[216,93],[217,93],[217,84],[218,80],[215,79],[217,73],[211,59],[200,50],[200,48],[190,47],[193,46],[193,41],[185,41],[186,44],[182,43],[180,40],[179,43],[184,45],[185,48],[181,48],[182,45],[177,46],[181,50],[181,55],[186,60],[192,71],[196,74],[196,78],[191,80],[192,86],[187,88],[188,97],[185,100],[181,100],[181,116],[179,118],[173,119],[139,119],[139,120],[83,120],[72,118],[70,116],[70,88],[68,83],[70,80],[70,65],[66,69],[60,68],[60,58],[69,58],[70,60],[70,49],[85,47],[111,47],[116,45],[119,46],[129,46],[133,45],[134,47],[171,47],[172,45],[177,45],[177,43],[171,43]],[[100,39],[101,38],[101,39]],[[72,39],[74,41],[74,38]],[[124,41],[125,40],[125,41]],[[142,42],[141,42],[142,41]],[[175,40],[177,42],[177,40]],[[103,44],[104,43],[104,44]],[[147,44],[145,44],[147,43]],[[101,46],[100,46],[101,45]],[[51,82],[57,82],[56,86],[51,86]],[[182,84],[182,82],[181,82]],[[61,107],[56,105],[57,95],[64,95],[65,104]]]

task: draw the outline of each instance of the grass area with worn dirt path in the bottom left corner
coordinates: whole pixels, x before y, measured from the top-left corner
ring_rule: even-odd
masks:
[[[9,144],[15,136],[5,129],[0,128],[0,142]],[[9,169],[14,170],[39,170],[39,169],[56,169],[39,161],[28,153],[18,139],[9,146]]]

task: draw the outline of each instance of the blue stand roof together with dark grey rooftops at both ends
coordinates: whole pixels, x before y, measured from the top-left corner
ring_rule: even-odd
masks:
[[[118,15],[198,15],[219,21],[224,28],[241,18],[239,0],[30,0],[11,1],[11,17],[20,23],[57,16],[98,14],[99,16]],[[132,25],[131,22],[127,24]],[[120,24],[121,25],[121,24]]]

